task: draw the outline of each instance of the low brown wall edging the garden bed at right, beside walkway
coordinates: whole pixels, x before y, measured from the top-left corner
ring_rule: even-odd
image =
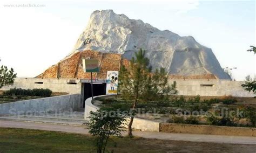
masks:
[[[175,123],[160,123],[160,131],[166,133],[190,133],[211,135],[255,136],[256,128],[220,127]]]

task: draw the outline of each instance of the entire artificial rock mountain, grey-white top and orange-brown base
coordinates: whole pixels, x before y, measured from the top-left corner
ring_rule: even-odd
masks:
[[[100,66],[100,72],[93,77],[105,79],[107,71],[129,65],[139,48],[146,50],[153,69],[164,67],[170,78],[230,79],[211,48],[200,45],[193,37],[160,31],[112,10],[94,11],[70,54],[37,77],[90,78],[82,69],[82,59],[90,57],[98,59]]]

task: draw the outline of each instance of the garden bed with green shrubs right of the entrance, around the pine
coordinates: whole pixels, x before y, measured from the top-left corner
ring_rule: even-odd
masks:
[[[133,103],[118,96],[105,96],[96,98],[94,105],[127,111],[130,110]],[[241,99],[238,101],[232,96],[214,98],[171,96],[167,101],[139,102],[136,117],[161,123],[255,127],[255,111],[256,103],[254,101],[247,102],[241,101]],[[240,116],[239,112],[242,112]]]

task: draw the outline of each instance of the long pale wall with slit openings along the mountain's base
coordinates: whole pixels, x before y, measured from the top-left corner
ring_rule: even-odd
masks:
[[[69,84],[72,80],[76,84]],[[230,81],[230,80],[183,80],[171,79],[169,83],[177,82],[178,95],[201,95],[201,96],[256,96],[252,92],[249,93],[241,87],[244,81]],[[37,84],[43,82],[43,84]],[[212,85],[212,86],[209,86]],[[83,94],[81,87],[82,83],[79,79],[38,79],[38,78],[16,78],[14,85],[5,86],[2,90],[10,88],[49,88],[53,92],[67,92],[70,94]]]

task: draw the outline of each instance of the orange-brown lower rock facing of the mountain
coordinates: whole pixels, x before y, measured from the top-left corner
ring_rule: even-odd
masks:
[[[92,73],[93,78],[105,79],[107,71],[119,71],[120,66],[129,67],[129,60],[122,58],[121,54],[102,53],[97,51],[82,51],[71,55],[69,58],[59,61],[58,64],[46,69],[37,78],[69,78],[90,79],[90,73],[84,73],[82,59],[97,59],[99,61],[99,73]],[[169,75],[170,79],[217,79],[213,74],[205,75]]]

